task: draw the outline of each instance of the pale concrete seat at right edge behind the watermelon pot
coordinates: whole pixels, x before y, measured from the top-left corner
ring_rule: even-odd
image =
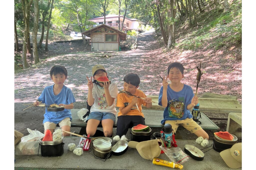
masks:
[[[228,114],[227,131],[238,139],[242,138],[242,113]]]

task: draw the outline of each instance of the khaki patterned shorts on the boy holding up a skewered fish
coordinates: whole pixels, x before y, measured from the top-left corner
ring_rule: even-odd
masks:
[[[165,121],[165,124],[169,123],[172,125],[173,131],[176,133],[178,126],[183,126],[185,129],[187,129],[191,133],[195,133],[198,130],[202,129],[201,126],[199,126],[192,118],[187,118],[184,120],[167,120]]]

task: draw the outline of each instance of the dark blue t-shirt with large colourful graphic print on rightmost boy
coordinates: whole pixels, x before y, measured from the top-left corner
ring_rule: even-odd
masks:
[[[163,86],[160,89],[158,104],[162,106]],[[176,92],[167,86],[167,107],[164,109],[164,119],[162,124],[166,120],[184,120],[186,118],[192,118],[190,110],[187,110],[187,105],[191,103],[194,97],[193,89],[184,84],[184,87],[179,92]]]

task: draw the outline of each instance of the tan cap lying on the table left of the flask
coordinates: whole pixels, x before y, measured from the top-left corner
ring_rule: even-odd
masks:
[[[130,148],[136,148],[142,158],[153,160],[161,154],[161,148],[159,147],[158,141],[158,139],[142,142],[130,141],[128,146]]]

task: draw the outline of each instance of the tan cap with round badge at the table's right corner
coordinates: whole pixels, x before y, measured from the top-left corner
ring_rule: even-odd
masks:
[[[241,168],[242,143],[236,143],[231,148],[221,151],[220,156],[230,168]]]

